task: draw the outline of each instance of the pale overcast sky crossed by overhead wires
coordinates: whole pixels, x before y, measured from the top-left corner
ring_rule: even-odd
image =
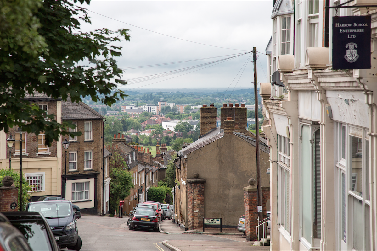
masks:
[[[117,44],[123,47],[122,56],[117,58],[118,67],[125,68],[122,79],[129,81],[121,89],[253,88],[252,53],[147,81],[139,79],[247,53],[253,47],[260,52],[257,81],[266,82],[264,53],[272,32],[272,0],[92,0],[83,7],[92,21],[91,25],[81,26],[83,31],[130,30],[130,41]],[[206,59],[209,57],[212,58]],[[194,61],[136,68],[187,60]],[[133,69],[126,69],[129,67]]]

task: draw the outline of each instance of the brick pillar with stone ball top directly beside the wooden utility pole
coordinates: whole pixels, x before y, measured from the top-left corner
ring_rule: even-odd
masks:
[[[257,232],[256,225],[258,222],[257,210],[257,193],[258,189],[255,186],[255,180],[249,180],[250,186],[244,187],[244,202],[245,202],[245,223],[246,223],[246,240],[256,240]],[[259,219],[262,220],[262,219]]]

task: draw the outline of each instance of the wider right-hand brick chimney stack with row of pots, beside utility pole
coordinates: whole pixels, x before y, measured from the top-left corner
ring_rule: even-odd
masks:
[[[245,127],[247,127],[247,108],[245,107],[245,104],[241,104],[241,107],[239,104],[235,104],[233,107],[232,103],[229,103],[229,106],[227,104],[222,104],[221,107],[221,125],[220,128],[224,129],[224,123],[228,119],[224,118],[233,118],[234,119],[234,131],[235,132],[246,132]]]

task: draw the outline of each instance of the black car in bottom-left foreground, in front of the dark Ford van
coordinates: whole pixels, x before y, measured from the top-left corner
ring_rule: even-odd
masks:
[[[34,251],[60,251],[46,219],[37,212],[5,212],[11,224],[26,237]]]

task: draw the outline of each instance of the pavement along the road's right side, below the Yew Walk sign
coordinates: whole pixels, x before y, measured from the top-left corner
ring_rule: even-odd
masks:
[[[233,242],[216,242],[209,240],[164,240],[162,243],[173,251],[201,251],[210,249],[221,249],[222,251],[254,251],[254,250],[270,250],[270,246],[253,246],[254,241],[247,242],[244,234],[236,228],[205,228],[192,229],[184,231],[172,220],[166,219],[161,221],[159,226],[160,233],[165,234],[210,234],[222,236]],[[168,237],[169,238],[169,237]]]

